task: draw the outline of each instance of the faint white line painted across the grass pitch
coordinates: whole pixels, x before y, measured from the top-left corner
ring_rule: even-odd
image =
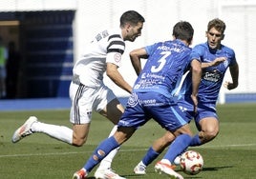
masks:
[[[201,146],[201,147],[192,147],[192,148],[228,148],[228,147],[253,147],[256,144],[243,144],[243,145],[225,145],[225,146]],[[148,149],[120,149],[119,152],[130,152],[130,151],[146,151]],[[27,156],[50,156],[50,155],[67,155],[67,154],[78,154],[78,153],[92,153],[93,151],[69,151],[69,152],[53,152],[53,153],[32,153],[32,154],[7,154],[0,155],[0,158],[9,158],[9,157],[27,157]]]

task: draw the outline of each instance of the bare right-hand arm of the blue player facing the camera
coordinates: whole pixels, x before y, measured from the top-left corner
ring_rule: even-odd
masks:
[[[238,76],[239,76],[239,66],[235,64],[234,66],[229,67],[229,71],[232,77],[232,82],[225,81],[224,88],[226,89],[236,89],[238,87]]]

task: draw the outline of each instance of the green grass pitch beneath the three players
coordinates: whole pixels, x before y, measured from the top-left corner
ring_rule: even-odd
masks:
[[[213,141],[201,147],[190,148],[203,155],[204,168],[189,176],[178,169],[185,179],[252,179],[256,178],[256,104],[218,105],[221,120],[220,133]],[[1,179],[68,179],[80,169],[96,145],[108,136],[113,125],[94,113],[87,143],[75,148],[41,133],[35,133],[17,144],[11,135],[30,116],[42,122],[71,127],[69,110],[1,111],[0,112],[0,178]],[[196,131],[194,122],[191,128]],[[147,174],[133,173],[152,142],[164,133],[151,120],[139,129],[117,153],[113,169],[131,179],[168,178],[155,173],[154,161]],[[161,157],[162,155],[160,155]],[[160,158],[159,158],[160,159]],[[93,179],[95,169],[89,178]]]

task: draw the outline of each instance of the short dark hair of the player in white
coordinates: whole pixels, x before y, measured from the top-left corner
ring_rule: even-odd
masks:
[[[126,23],[136,26],[139,22],[145,22],[145,19],[139,12],[135,10],[125,11],[120,17],[120,26],[123,27]]]

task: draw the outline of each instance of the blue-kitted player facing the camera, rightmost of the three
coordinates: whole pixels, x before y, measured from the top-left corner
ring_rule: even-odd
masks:
[[[184,79],[181,91],[179,93],[178,105],[186,115],[188,121],[195,119],[199,133],[196,134],[190,146],[201,146],[214,139],[219,133],[219,118],[216,112],[216,103],[219,91],[223,85],[224,73],[229,68],[232,82],[224,82],[226,89],[235,89],[238,87],[239,66],[236,61],[235,52],[222,45],[224,39],[225,24],[219,18],[209,21],[206,31],[207,42],[195,46],[191,52],[191,60],[200,60],[202,62],[202,80],[198,92],[197,113],[194,112],[193,101],[190,99],[191,71]],[[134,172],[145,174],[146,167],[156,159],[163,149],[168,147],[175,139],[172,133],[166,131],[165,134],[156,140],[152,147],[148,149],[146,155],[139,162]],[[176,143],[178,138],[175,139]],[[176,156],[181,154],[176,149],[170,150],[169,158],[171,164],[178,164]],[[179,159],[179,157],[177,157]],[[177,163],[178,162],[178,163]],[[157,163],[158,164],[158,163]],[[169,168],[173,169],[173,166]]]

